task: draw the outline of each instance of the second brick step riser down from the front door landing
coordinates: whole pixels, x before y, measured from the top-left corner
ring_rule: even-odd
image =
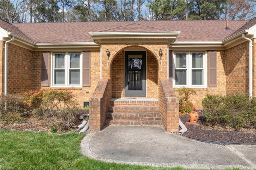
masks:
[[[143,112],[143,113],[159,113],[159,106],[114,106],[108,107],[109,112]]]

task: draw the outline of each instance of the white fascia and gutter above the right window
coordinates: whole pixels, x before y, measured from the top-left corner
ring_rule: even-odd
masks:
[[[222,42],[174,42],[170,47],[223,47]]]

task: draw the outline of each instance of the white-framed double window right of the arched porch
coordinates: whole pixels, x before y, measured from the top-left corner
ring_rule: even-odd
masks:
[[[173,61],[174,87],[207,87],[206,52],[174,52]]]

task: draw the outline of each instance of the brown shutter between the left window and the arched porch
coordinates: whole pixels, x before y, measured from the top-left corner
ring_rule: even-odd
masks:
[[[90,86],[90,52],[83,52],[83,86]]]

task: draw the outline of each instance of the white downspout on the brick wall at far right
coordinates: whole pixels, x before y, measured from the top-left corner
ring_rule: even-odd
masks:
[[[249,95],[252,97],[252,40],[242,34],[242,38],[249,41]]]

